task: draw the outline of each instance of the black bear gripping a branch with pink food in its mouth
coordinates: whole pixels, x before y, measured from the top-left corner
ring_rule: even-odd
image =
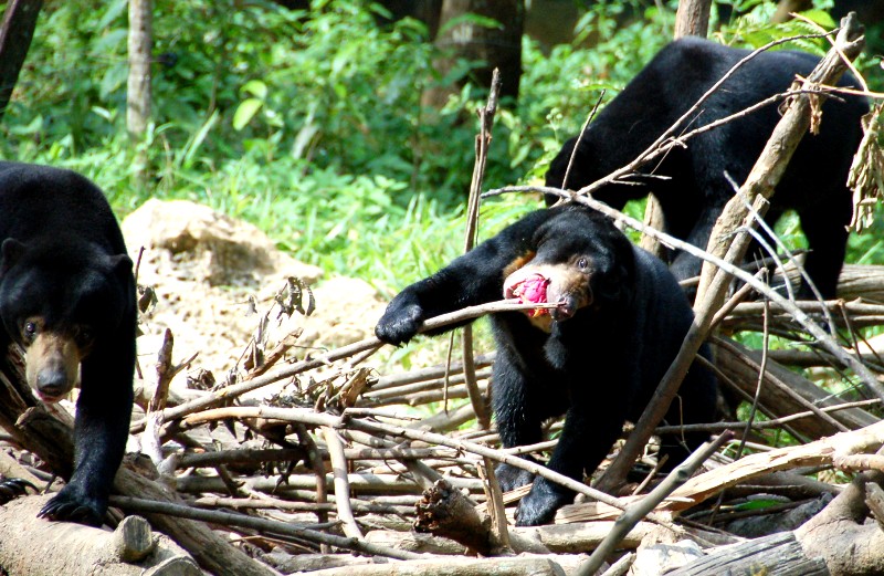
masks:
[[[492,316],[497,343],[492,402],[503,446],[541,441],[541,423],[565,413],[548,465],[582,480],[608,454],[623,422],[641,416],[691,326],[691,306],[660,260],[633,247],[602,214],[568,203],[529,213],[408,286],[390,302],[375,332],[398,345],[427,318],[504,295],[557,303],[558,308]],[[705,346],[702,354],[709,357]],[[715,398],[715,379],[695,364],[666,419],[711,422]],[[674,467],[706,438],[666,437],[661,452]],[[507,464],[496,472],[504,490],[534,480],[518,509],[519,525],[551,521],[573,498]]]

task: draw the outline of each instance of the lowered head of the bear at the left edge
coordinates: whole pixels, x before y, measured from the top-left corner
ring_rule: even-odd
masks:
[[[24,349],[28,384],[46,402],[74,388],[81,362],[113,334],[134,297],[128,255],[67,240],[8,238],[0,248],[0,318]]]

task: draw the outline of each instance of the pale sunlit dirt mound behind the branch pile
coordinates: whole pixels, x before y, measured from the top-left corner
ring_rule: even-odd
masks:
[[[346,277],[322,282],[323,271],[278,251],[252,224],[185,200],[148,200],[123,221],[138,265],[138,283],[152,287],[156,306],[138,338],[143,367],[154,364],[166,328],[175,336],[175,360],[199,353],[194,367],[218,380],[233,369],[274,296],[294,276],[313,287],[316,311],[277,321],[270,316],[269,345],[303,328],[299,346],[330,347],[372,333],[383,303],[368,283]],[[296,350],[298,356],[303,350]],[[145,369],[151,379],[151,369]]]

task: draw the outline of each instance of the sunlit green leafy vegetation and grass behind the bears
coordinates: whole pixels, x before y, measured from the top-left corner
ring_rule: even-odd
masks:
[[[486,188],[541,177],[599,91],[610,100],[672,36],[676,3],[599,1],[570,44],[526,36],[519,101],[498,115]],[[738,15],[714,23],[720,42],[757,46],[807,31],[767,24],[774,2],[733,4]],[[808,15],[833,25],[827,2],[815,6]],[[261,0],[156,0],[155,123],[139,156],[125,130],[126,1],[48,3],[0,125],[0,154],[88,175],[120,216],[149,197],[208,203],[257,224],[299,260],[391,294],[460,250],[473,111],[486,87],[422,109],[423,90],[459,80],[471,63],[439,77],[425,28],[379,24],[381,12],[358,1],[315,0],[307,15]],[[861,66],[881,88],[877,59]],[[140,157],[147,182],[137,177]],[[526,197],[486,202],[483,234],[537,206]],[[794,221],[780,228],[800,244]],[[884,263],[882,239],[878,220],[852,239],[849,259]]]

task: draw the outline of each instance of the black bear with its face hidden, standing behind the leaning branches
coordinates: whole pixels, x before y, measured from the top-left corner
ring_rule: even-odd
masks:
[[[664,48],[613,98],[585,130],[568,172],[577,138],[568,140],[552,160],[547,186],[578,190],[634,160],[672,126],[699,97],[749,51],[727,48],[697,38],[684,38]],[[688,132],[743,111],[789,88],[796,74],[807,76],[819,59],[800,52],[764,52],[744,64],[688,118],[676,134]],[[859,86],[845,74],[841,86]],[[766,220],[775,222],[786,210],[796,210],[809,248],[804,269],[823,297],[835,296],[838,276],[848,241],[845,227],[852,213],[848,170],[862,137],[860,118],[869,112],[864,97],[839,95],[823,105],[819,135],[801,140],[777,191]],[[660,200],[665,231],[698,248],[706,248],[712,227],[734,196],[729,175],[741,185],[761,153],[780,115],[770,104],[687,140],[662,160],[642,167],[632,185],[613,184],[593,198],[622,209],[653,191]],[[636,186],[634,182],[641,182]],[[558,198],[549,195],[547,205]],[[699,273],[701,261],[680,252],[671,270],[678,280]],[[802,286],[802,296],[810,296]]]

